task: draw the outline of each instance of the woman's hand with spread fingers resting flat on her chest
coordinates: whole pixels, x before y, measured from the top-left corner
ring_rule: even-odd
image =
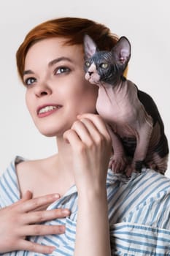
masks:
[[[42,236],[64,233],[62,225],[41,225],[50,219],[69,215],[67,209],[49,211],[39,210],[47,207],[60,197],[58,194],[45,195],[32,199],[31,192],[26,192],[21,200],[11,206],[0,209],[0,253],[15,250],[33,251],[50,254],[53,246],[43,246],[26,240],[26,236]],[[39,224],[38,224],[39,223]]]

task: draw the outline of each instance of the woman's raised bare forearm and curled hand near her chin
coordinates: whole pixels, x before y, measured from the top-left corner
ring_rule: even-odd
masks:
[[[63,136],[72,146],[78,192],[74,256],[110,256],[106,189],[112,148],[109,132],[100,116],[83,114]]]

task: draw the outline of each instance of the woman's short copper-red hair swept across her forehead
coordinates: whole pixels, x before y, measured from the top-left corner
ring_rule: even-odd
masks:
[[[117,42],[117,36],[101,23],[85,18],[56,18],[39,24],[28,32],[16,53],[18,73],[23,81],[23,71],[28,49],[35,42],[51,37],[65,37],[69,45],[83,44],[88,34],[98,45],[98,49],[110,50]]]

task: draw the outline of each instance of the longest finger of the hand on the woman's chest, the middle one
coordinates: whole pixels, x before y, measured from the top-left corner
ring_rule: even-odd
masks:
[[[20,217],[22,223],[39,223],[39,222],[46,222],[48,220],[52,219],[61,219],[69,216],[70,211],[69,209],[55,209],[55,210],[47,210],[47,211],[34,211],[29,212],[28,214],[24,214],[22,217]]]

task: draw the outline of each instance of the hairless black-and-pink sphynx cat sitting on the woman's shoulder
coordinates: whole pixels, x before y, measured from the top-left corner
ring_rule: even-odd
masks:
[[[131,45],[120,37],[111,51],[99,51],[93,39],[85,35],[85,78],[96,84],[96,110],[107,121],[112,137],[115,172],[150,167],[165,173],[169,146],[163,121],[152,98],[123,77],[131,57]]]

